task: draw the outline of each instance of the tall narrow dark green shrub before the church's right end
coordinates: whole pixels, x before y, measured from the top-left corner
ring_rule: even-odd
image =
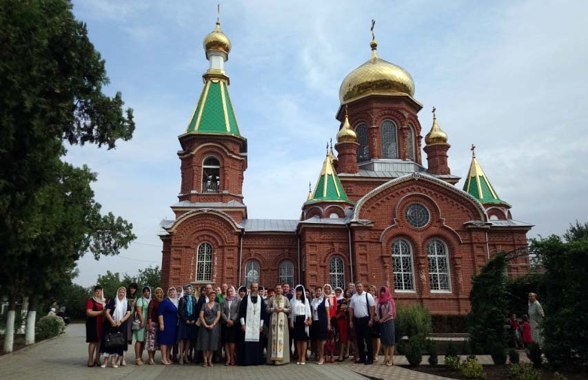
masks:
[[[472,346],[490,353],[494,344],[506,347],[505,319],[507,317],[506,253],[497,253],[472,277],[467,315],[467,328]]]

